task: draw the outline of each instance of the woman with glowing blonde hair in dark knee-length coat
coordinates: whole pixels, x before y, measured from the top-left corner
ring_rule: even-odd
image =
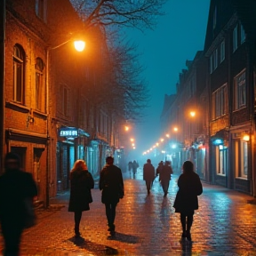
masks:
[[[81,236],[79,231],[82,212],[89,211],[92,203],[91,189],[94,188],[92,174],[88,172],[84,160],[76,160],[70,172],[70,197],[68,212],[74,212],[75,235]]]

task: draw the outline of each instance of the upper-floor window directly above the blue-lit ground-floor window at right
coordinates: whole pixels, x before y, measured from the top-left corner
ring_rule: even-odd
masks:
[[[224,116],[228,111],[227,84],[212,93],[212,120]]]

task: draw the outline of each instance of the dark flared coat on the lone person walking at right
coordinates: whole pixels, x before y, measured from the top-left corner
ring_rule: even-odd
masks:
[[[198,198],[203,193],[203,187],[196,172],[185,172],[180,174],[178,180],[179,190],[174,200],[175,212],[193,212],[197,210]]]

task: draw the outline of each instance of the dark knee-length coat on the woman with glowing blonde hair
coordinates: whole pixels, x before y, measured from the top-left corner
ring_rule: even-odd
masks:
[[[92,203],[92,188],[94,188],[94,180],[90,172],[87,170],[71,172],[68,212],[90,210],[89,204]]]

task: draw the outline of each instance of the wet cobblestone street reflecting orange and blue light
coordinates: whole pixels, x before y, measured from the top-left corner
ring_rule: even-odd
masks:
[[[125,196],[116,208],[116,237],[108,235],[105,207],[95,188],[91,211],[83,212],[82,236],[75,238],[67,192],[51,200],[50,210],[38,212],[36,227],[23,233],[21,256],[256,256],[256,205],[247,202],[252,196],[203,183],[191,229],[194,243],[180,244],[180,215],[172,208],[178,175],[172,177],[167,197],[157,180],[147,195],[141,170],[135,180],[126,175]]]

